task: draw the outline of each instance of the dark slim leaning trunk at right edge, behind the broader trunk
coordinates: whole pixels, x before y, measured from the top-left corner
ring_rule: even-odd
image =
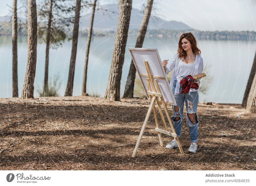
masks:
[[[243,102],[242,102],[243,107],[247,107],[246,105],[247,105],[249,93],[251,92],[251,89],[252,89],[252,81],[253,81],[253,78],[255,79],[255,72],[256,72],[256,52],[255,52],[254,60],[252,63],[251,73],[250,73],[249,79],[247,81],[246,89],[244,92],[244,98],[243,98]]]

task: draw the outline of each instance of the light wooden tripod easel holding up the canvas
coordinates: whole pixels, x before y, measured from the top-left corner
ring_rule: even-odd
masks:
[[[178,138],[178,136],[176,134],[175,128],[173,127],[172,120],[171,120],[171,117],[169,115],[169,112],[168,112],[168,109],[167,109],[167,105],[166,105],[166,103],[164,101],[164,98],[162,96],[162,92],[161,92],[161,89],[160,89],[159,84],[157,82],[157,79],[155,79],[153,81],[153,76],[150,73],[148,61],[144,61],[144,63],[145,63],[145,66],[146,66],[146,69],[147,69],[147,72],[148,72],[147,84],[148,84],[148,90],[149,91],[147,91],[147,93],[148,93],[148,95],[150,95],[151,102],[150,102],[150,105],[149,105],[149,108],[148,108],[148,112],[147,112],[146,118],[145,118],[144,123],[142,125],[139,138],[137,140],[137,143],[135,145],[134,151],[132,153],[132,157],[135,158],[135,156],[136,156],[137,150],[138,150],[139,145],[140,145],[141,138],[142,138],[142,136],[144,134],[144,130],[145,130],[146,125],[148,123],[149,115],[150,115],[152,109],[153,109],[154,118],[155,118],[155,122],[156,122],[155,130],[156,130],[156,132],[158,134],[160,146],[163,146],[163,140],[162,140],[162,136],[161,136],[161,133],[163,133],[165,135],[169,135],[169,136],[174,137],[174,139],[177,141],[178,147],[180,149],[180,153],[184,154],[184,151],[183,151],[183,149],[181,147],[181,144],[180,144],[180,140],[179,140],[179,138]],[[157,89],[158,92],[156,92],[156,89]],[[160,98],[160,100],[159,100],[159,98]],[[161,116],[161,120],[162,120],[162,122],[164,124],[164,129],[165,130],[159,128],[158,120],[157,120],[157,115],[156,115],[155,104],[158,106],[158,110],[159,110],[159,113],[160,113],[160,116]],[[164,107],[164,111],[166,113],[167,119],[168,119],[168,121],[170,123],[170,126],[172,128],[172,132],[169,132],[167,130],[166,122],[165,122],[165,119],[164,119],[164,113],[162,111],[161,105]]]

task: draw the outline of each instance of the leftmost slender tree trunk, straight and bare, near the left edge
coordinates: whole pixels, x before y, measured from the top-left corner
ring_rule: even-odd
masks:
[[[12,5],[12,97],[18,97],[17,0]]]

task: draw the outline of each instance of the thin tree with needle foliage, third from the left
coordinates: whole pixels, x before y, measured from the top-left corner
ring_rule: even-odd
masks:
[[[44,95],[49,93],[49,52],[51,48],[58,48],[61,45],[61,42],[67,38],[66,29],[69,28],[70,22],[72,22],[70,19],[70,12],[74,11],[74,7],[70,4],[70,0],[44,0],[40,1],[39,4],[39,11],[37,13],[40,25],[38,38],[40,43],[46,43]]]

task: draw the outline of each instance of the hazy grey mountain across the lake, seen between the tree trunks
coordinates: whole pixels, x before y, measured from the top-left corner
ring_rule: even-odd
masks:
[[[103,10],[102,10],[103,9]],[[116,30],[118,23],[118,4],[104,4],[100,9],[96,7],[93,28],[95,30]],[[129,30],[139,29],[144,12],[132,8]],[[91,13],[85,14],[80,18],[79,28],[87,29],[90,25]],[[170,30],[191,30],[193,28],[178,21],[166,21],[156,16],[151,16],[148,23],[148,29],[170,29]]]

